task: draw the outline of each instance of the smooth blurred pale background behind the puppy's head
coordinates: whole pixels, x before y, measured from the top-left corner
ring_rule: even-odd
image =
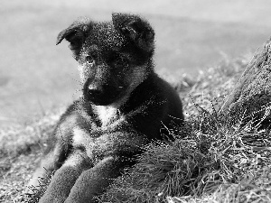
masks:
[[[156,69],[196,78],[271,36],[269,0],[0,0],[0,127],[33,121],[79,96],[77,63],[56,36],[79,16],[142,14],[156,32]]]

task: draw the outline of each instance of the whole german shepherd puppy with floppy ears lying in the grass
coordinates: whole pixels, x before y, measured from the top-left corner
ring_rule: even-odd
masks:
[[[154,30],[133,14],[75,21],[59,33],[79,64],[82,97],[61,115],[30,185],[55,171],[40,202],[95,202],[142,146],[183,120],[174,89],[154,73]]]

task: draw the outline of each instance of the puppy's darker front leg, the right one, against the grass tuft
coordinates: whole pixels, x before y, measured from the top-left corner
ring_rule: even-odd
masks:
[[[108,156],[99,161],[93,168],[81,173],[65,203],[97,202],[95,197],[107,189],[125,166],[126,162],[120,157]]]

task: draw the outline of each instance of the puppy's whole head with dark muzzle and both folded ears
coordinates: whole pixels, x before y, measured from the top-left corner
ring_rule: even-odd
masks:
[[[112,14],[103,23],[81,18],[59,33],[57,44],[63,39],[79,63],[83,95],[95,105],[117,102],[152,71],[154,30],[138,15]]]

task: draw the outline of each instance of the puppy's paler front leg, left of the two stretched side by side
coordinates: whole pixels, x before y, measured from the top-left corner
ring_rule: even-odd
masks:
[[[61,168],[55,172],[48,189],[40,199],[40,203],[63,203],[70,194],[70,189],[82,171],[89,169],[83,152],[73,152]]]

